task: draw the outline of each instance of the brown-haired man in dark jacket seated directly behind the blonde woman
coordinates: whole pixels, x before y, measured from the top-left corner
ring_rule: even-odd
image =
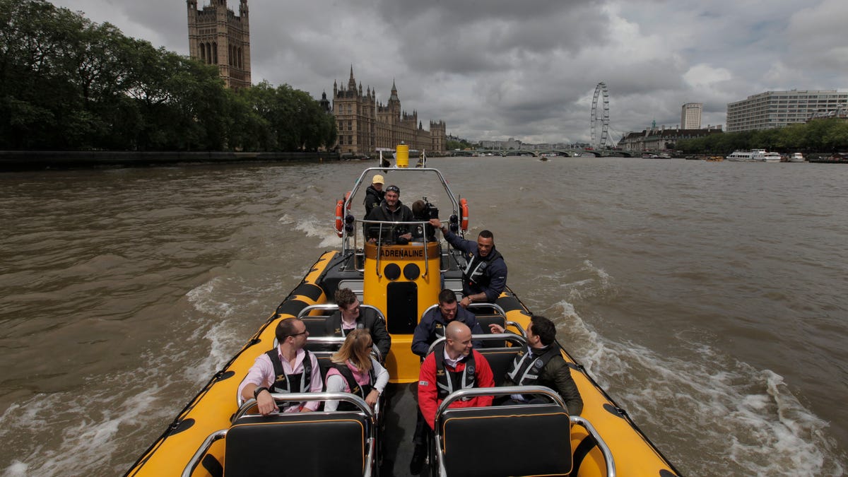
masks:
[[[338,311],[327,317],[324,331],[327,336],[347,336],[357,328],[365,328],[371,332],[371,339],[380,351],[380,358],[386,361],[388,350],[392,346],[392,337],[386,331],[386,322],[370,308],[360,311],[360,300],[351,289],[336,291]]]

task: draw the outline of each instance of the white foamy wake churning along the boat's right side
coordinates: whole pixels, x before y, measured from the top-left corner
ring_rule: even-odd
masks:
[[[619,406],[656,436],[661,451],[683,474],[842,475],[845,452],[784,379],[756,369],[692,337],[678,336],[693,358],[660,356],[632,342],[594,332],[571,303],[559,316],[561,343]],[[563,340],[565,338],[565,341]],[[691,449],[701,449],[692,460]],[[687,452],[688,451],[688,452]]]

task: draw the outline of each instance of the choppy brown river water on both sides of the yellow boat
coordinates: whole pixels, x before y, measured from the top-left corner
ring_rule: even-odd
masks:
[[[848,167],[429,165],[681,472],[846,472]],[[363,166],[0,174],[0,472],[125,472],[338,247]]]

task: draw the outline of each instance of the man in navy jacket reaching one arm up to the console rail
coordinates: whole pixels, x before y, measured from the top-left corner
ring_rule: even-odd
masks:
[[[466,253],[468,263],[462,271],[462,293],[465,297],[460,305],[466,307],[479,301],[494,303],[506,288],[506,262],[494,248],[494,234],[483,230],[477,235],[477,242],[472,242],[450,232],[438,219],[431,219],[430,225],[440,227],[444,239],[456,250]]]

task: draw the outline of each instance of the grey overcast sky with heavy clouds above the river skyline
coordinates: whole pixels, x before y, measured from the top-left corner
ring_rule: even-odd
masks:
[[[52,0],[188,53],[185,0]],[[210,0],[198,0],[198,5]],[[238,11],[238,0],[227,1]],[[248,0],[254,84],[321,98],[363,90],[472,140],[588,142],[604,81],[610,130],[677,126],[703,103],[784,89],[848,89],[846,0]]]

